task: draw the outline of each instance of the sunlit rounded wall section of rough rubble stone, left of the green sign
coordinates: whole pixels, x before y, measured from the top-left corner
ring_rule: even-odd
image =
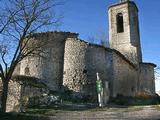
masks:
[[[68,38],[65,44],[63,85],[75,92],[83,92],[87,82],[85,57],[88,45]]]

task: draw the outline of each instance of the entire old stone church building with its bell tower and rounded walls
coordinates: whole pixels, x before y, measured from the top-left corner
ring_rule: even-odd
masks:
[[[98,72],[106,96],[154,94],[156,65],[142,61],[136,4],[121,0],[109,6],[108,14],[109,48],[80,40],[76,33],[36,33],[32,39],[52,42],[43,48],[46,57],[25,58],[15,74],[39,78],[53,91],[65,87],[92,97]]]

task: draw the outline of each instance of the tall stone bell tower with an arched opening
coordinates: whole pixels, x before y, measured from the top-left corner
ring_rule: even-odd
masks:
[[[133,1],[120,0],[108,9],[110,48],[121,52],[134,64],[142,62],[138,8]]]

